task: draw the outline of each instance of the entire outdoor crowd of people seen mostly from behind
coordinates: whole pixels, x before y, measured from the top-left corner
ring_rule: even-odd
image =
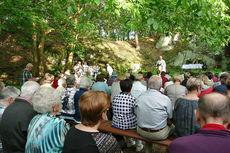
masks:
[[[46,73],[39,79],[32,77],[29,63],[20,74],[20,90],[0,83],[1,151],[120,153],[117,139],[98,130],[103,120],[111,120],[114,128],[136,129],[150,140],[177,138],[168,153],[229,152],[228,72],[218,78],[211,72],[170,76],[163,70],[107,75],[98,68],[94,78],[84,65],[78,62],[73,74]],[[137,152],[144,147],[141,140],[124,141]]]

